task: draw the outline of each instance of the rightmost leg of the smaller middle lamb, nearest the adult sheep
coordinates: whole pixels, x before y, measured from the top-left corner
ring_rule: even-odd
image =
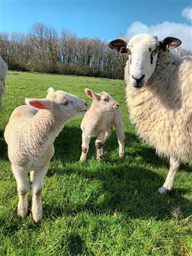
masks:
[[[116,129],[116,135],[119,145],[118,156],[123,157],[125,153],[125,132],[124,123],[121,115],[116,116],[116,119],[114,120],[114,127]]]

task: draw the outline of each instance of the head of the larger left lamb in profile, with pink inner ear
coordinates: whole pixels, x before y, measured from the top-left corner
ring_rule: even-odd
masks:
[[[75,95],[61,90],[54,92],[53,88],[47,92],[45,99],[26,99],[26,104],[36,109],[48,109],[65,121],[83,115],[88,109],[87,103]]]

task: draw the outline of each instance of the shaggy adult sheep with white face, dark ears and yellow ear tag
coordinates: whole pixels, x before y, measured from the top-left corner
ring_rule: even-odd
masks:
[[[168,176],[159,193],[172,190],[181,162],[192,159],[191,52],[174,49],[178,38],[143,34],[129,43],[114,40],[111,49],[127,53],[125,67],[127,106],[143,140],[170,157]]]

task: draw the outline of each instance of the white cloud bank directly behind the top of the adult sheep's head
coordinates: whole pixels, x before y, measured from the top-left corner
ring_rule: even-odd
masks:
[[[136,21],[129,26],[126,36],[131,38],[141,33],[156,35],[159,40],[163,40],[167,36],[177,37],[182,41],[182,47],[191,51],[192,27],[188,24],[165,21],[156,25],[147,26],[140,21]]]

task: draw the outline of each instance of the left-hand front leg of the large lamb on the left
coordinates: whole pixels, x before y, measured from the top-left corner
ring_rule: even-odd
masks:
[[[17,215],[21,218],[28,214],[28,175],[24,170],[19,170],[19,168],[15,168],[13,165],[12,172],[15,176],[15,180],[17,181],[17,191],[19,194]]]

